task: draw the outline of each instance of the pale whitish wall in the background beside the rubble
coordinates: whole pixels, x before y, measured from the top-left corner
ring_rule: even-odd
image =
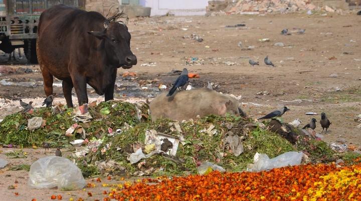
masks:
[[[139,0],[139,4],[150,7],[150,16],[165,15],[199,16],[206,14],[209,0]]]

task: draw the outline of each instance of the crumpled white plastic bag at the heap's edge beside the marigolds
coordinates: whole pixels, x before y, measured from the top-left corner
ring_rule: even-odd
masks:
[[[289,151],[270,159],[267,154],[256,153],[253,158],[254,164],[248,171],[259,172],[288,165],[299,165],[301,164],[302,156],[302,152]]]

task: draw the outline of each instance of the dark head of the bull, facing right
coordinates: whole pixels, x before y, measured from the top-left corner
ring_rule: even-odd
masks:
[[[117,68],[131,68],[137,64],[136,56],[130,50],[130,34],[125,24],[104,22],[104,31],[88,32],[104,42],[106,57]]]

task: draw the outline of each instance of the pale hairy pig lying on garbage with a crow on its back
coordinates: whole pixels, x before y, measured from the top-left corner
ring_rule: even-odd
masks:
[[[180,91],[173,96],[161,93],[149,105],[152,121],[160,118],[171,120],[196,119],[210,114],[225,116],[226,113],[239,116],[245,115],[239,108],[238,100],[208,88]]]

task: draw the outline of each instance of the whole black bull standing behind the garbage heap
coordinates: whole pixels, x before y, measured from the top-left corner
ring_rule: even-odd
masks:
[[[117,68],[137,63],[128,28],[116,20],[65,5],[42,13],[37,53],[46,96],[53,94],[54,76],[63,81],[68,107],[73,107],[73,87],[79,106],[88,103],[87,84],[105,101],[113,99]]]

